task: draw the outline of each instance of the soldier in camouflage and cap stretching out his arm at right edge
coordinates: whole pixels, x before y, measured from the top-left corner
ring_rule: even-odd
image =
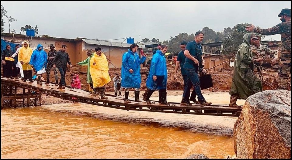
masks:
[[[247,26],[245,30],[257,32],[262,35],[281,34],[281,55],[279,58],[278,89],[287,89],[288,79],[291,72],[291,9],[282,9],[278,17],[282,23],[269,28],[260,29],[255,26]]]

